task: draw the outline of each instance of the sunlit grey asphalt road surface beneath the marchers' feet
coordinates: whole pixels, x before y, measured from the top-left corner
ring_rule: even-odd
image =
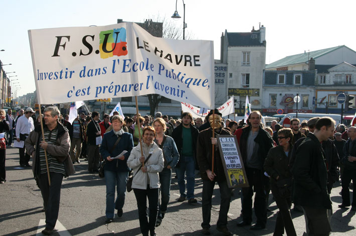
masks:
[[[43,202],[31,168],[19,168],[18,149],[11,148],[6,154],[7,182],[0,184],[0,235],[42,235],[45,213]],[[83,159],[81,159],[83,160]],[[30,164],[32,162],[30,161]],[[56,228],[52,235],[141,235],[137,203],[134,192],[127,193],[124,215],[105,225],[105,183],[97,175],[89,174],[87,161],[75,164],[76,174],[63,180],[61,204]],[[331,235],[356,235],[355,211],[339,209],[341,182],[337,182],[331,193],[333,215]],[[172,179],[171,199],[162,224],[156,228],[158,235],[203,235],[201,234],[202,182],[196,177],[195,195],[198,203],[177,201],[179,189],[177,179]],[[234,235],[272,235],[278,208],[270,194],[272,212],[268,212],[266,229],[252,231],[248,226],[237,227],[241,212],[240,190],[234,189],[228,214],[228,225]],[[219,190],[216,185],[212,199],[211,235],[222,235],[216,230],[219,209]],[[292,211],[297,235],[305,231],[302,213]],[[254,221],[256,218],[254,218]]]

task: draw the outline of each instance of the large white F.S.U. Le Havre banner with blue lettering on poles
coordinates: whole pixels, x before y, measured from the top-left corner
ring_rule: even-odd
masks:
[[[41,104],[157,93],[214,106],[213,42],[156,38],[135,23],[29,30]]]

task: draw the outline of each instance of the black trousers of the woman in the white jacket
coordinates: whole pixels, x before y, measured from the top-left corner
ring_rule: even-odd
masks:
[[[148,235],[149,231],[153,233],[158,214],[159,188],[150,188],[150,185],[147,185],[147,189],[134,188],[134,193],[137,200],[137,208],[139,209],[141,232],[143,235]],[[147,198],[150,211],[149,219],[147,218]]]

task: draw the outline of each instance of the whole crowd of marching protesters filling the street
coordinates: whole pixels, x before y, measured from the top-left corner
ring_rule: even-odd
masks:
[[[203,183],[201,232],[210,234],[211,199],[217,183],[220,191],[217,230],[231,235],[227,212],[232,193],[217,148],[218,135],[236,136],[249,183],[248,187],[242,187],[242,220],[237,226],[252,224],[254,208],[257,221],[250,229],[264,229],[272,191],[279,209],[273,235],[283,235],[284,231],[296,235],[290,213],[292,203],[294,210],[304,212],[306,235],[328,235],[332,214],[330,193],[333,183],[340,178],[342,203],[338,207],[351,206],[350,210],[356,211],[356,195],[350,201],[349,194],[351,180],[356,181],[356,128],[336,126],[329,117],[313,117],[302,123],[294,118],[290,128],[282,128],[277,121],[265,127],[259,111],[251,112],[246,124],[223,120],[217,109],[205,119],[193,119],[190,112],[184,112],[178,120],[161,112],[155,117],[135,114],[125,119],[114,112],[112,116],[103,114],[101,121],[100,114],[93,111],[87,115],[80,113],[72,123],[68,121],[69,115],[61,115],[55,106],[44,108],[43,116],[36,118],[34,114],[30,107],[20,110],[16,118],[11,109],[7,114],[0,110],[0,133],[7,133],[0,139],[0,177],[1,183],[5,183],[6,148],[11,147],[15,136],[17,142],[24,141],[24,146],[19,147],[20,166],[31,166],[32,157],[34,177],[46,212],[46,227],[42,231],[46,235],[52,233],[58,217],[62,179],[74,174],[74,164],[80,164],[81,158],[88,161],[90,174],[98,173],[100,161],[105,161],[105,223],[123,216],[131,175],[141,232],[156,235],[155,228],[169,212],[172,169],[178,179],[177,200],[188,203],[197,202],[194,189],[198,169]]]

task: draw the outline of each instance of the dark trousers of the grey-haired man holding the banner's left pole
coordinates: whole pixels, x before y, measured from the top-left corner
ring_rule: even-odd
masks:
[[[46,227],[53,229],[58,218],[63,174],[50,172],[50,177],[51,185],[48,183],[47,173],[40,175],[38,183],[46,211]]]

